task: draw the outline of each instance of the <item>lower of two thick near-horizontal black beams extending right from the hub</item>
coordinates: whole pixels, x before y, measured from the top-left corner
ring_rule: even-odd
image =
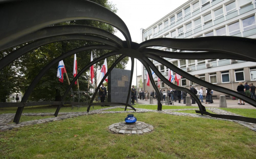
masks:
[[[205,60],[205,59],[232,59],[232,60],[245,60],[238,55],[232,55],[221,52],[170,52],[157,49],[145,48],[142,49],[141,53],[152,53],[164,58],[171,59],[186,59],[186,60]],[[251,60],[253,61],[253,60]]]

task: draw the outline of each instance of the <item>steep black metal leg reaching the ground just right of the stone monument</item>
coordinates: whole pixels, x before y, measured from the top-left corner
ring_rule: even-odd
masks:
[[[138,60],[145,66],[145,68],[146,68],[146,70],[147,70],[147,73],[149,73],[148,75],[149,75],[149,77],[150,77],[150,81],[151,81],[151,84],[152,84],[152,86],[153,86],[153,88],[155,89],[155,91],[156,91],[156,93],[157,93],[157,102],[158,102],[158,104],[157,104],[157,110],[159,111],[159,110],[162,110],[162,104],[161,104],[161,98],[160,98],[160,93],[159,93],[159,90],[158,90],[158,88],[157,88],[157,86],[156,86],[156,84],[155,84],[155,81],[154,81],[154,79],[153,79],[153,76],[152,76],[152,74],[151,74],[151,70],[150,70],[150,67],[148,66],[148,63],[145,61],[147,58],[143,58],[142,57],[142,59],[141,58],[138,58]],[[155,66],[154,66],[155,67]],[[156,67],[155,67],[156,68]],[[155,72],[155,71],[154,71]],[[157,75],[157,74],[156,74]],[[159,77],[159,76],[158,76]]]

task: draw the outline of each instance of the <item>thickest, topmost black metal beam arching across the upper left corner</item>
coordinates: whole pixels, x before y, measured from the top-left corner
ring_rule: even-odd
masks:
[[[89,19],[114,26],[131,47],[130,32],[124,21],[112,11],[88,0],[5,0],[0,5],[0,17],[5,24],[0,26],[0,45],[57,23]]]

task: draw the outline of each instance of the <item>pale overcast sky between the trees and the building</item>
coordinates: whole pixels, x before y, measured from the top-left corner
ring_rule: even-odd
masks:
[[[128,27],[133,42],[141,43],[140,29],[146,29],[157,20],[166,16],[188,0],[109,0],[115,4],[117,15]],[[115,33],[125,40],[121,32]],[[135,65],[136,63],[134,63]],[[137,60],[137,75],[141,75],[141,63]],[[126,65],[131,70],[131,62]],[[136,66],[133,71],[132,84],[136,85]]]

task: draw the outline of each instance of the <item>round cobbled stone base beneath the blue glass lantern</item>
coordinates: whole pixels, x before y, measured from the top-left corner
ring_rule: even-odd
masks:
[[[121,134],[143,134],[147,132],[152,132],[154,130],[154,127],[152,125],[139,121],[131,124],[126,122],[120,122],[110,125],[109,130],[113,133]]]

